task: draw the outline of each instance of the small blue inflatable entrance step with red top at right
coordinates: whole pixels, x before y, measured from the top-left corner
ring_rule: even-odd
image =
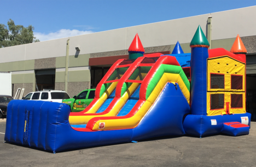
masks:
[[[224,122],[222,133],[232,136],[245,135],[249,134],[249,128],[250,126],[240,122]]]

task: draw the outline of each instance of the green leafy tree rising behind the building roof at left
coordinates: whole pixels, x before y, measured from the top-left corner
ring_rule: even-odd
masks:
[[[7,24],[8,28],[4,24],[0,24],[0,48],[39,42],[39,40],[34,37],[34,27],[31,25],[28,27],[15,25],[14,21],[11,19]]]

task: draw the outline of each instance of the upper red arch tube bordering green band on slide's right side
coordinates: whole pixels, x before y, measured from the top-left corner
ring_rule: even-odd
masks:
[[[146,100],[146,92],[148,88],[148,84],[151,79],[154,77],[154,74],[159,69],[161,64],[169,64],[169,65],[177,65],[180,66],[177,59],[171,55],[163,55],[161,56],[154,66],[149,70],[148,75],[143,79],[143,83],[141,84],[141,90],[139,90],[139,99]]]

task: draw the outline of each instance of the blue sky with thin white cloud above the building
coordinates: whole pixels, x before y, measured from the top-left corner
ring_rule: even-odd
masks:
[[[255,0],[0,0],[0,23],[34,27],[40,41],[256,5]]]

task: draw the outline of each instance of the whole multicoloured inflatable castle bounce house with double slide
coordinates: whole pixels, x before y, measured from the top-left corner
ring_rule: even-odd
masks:
[[[13,100],[4,139],[55,153],[184,134],[248,134],[246,48],[238,35],[230,52],[209,46],[199,26],[191,54],[178,42],[172,54],[144,54],[136,34],[129,59],[110,67],[83,112]]]

